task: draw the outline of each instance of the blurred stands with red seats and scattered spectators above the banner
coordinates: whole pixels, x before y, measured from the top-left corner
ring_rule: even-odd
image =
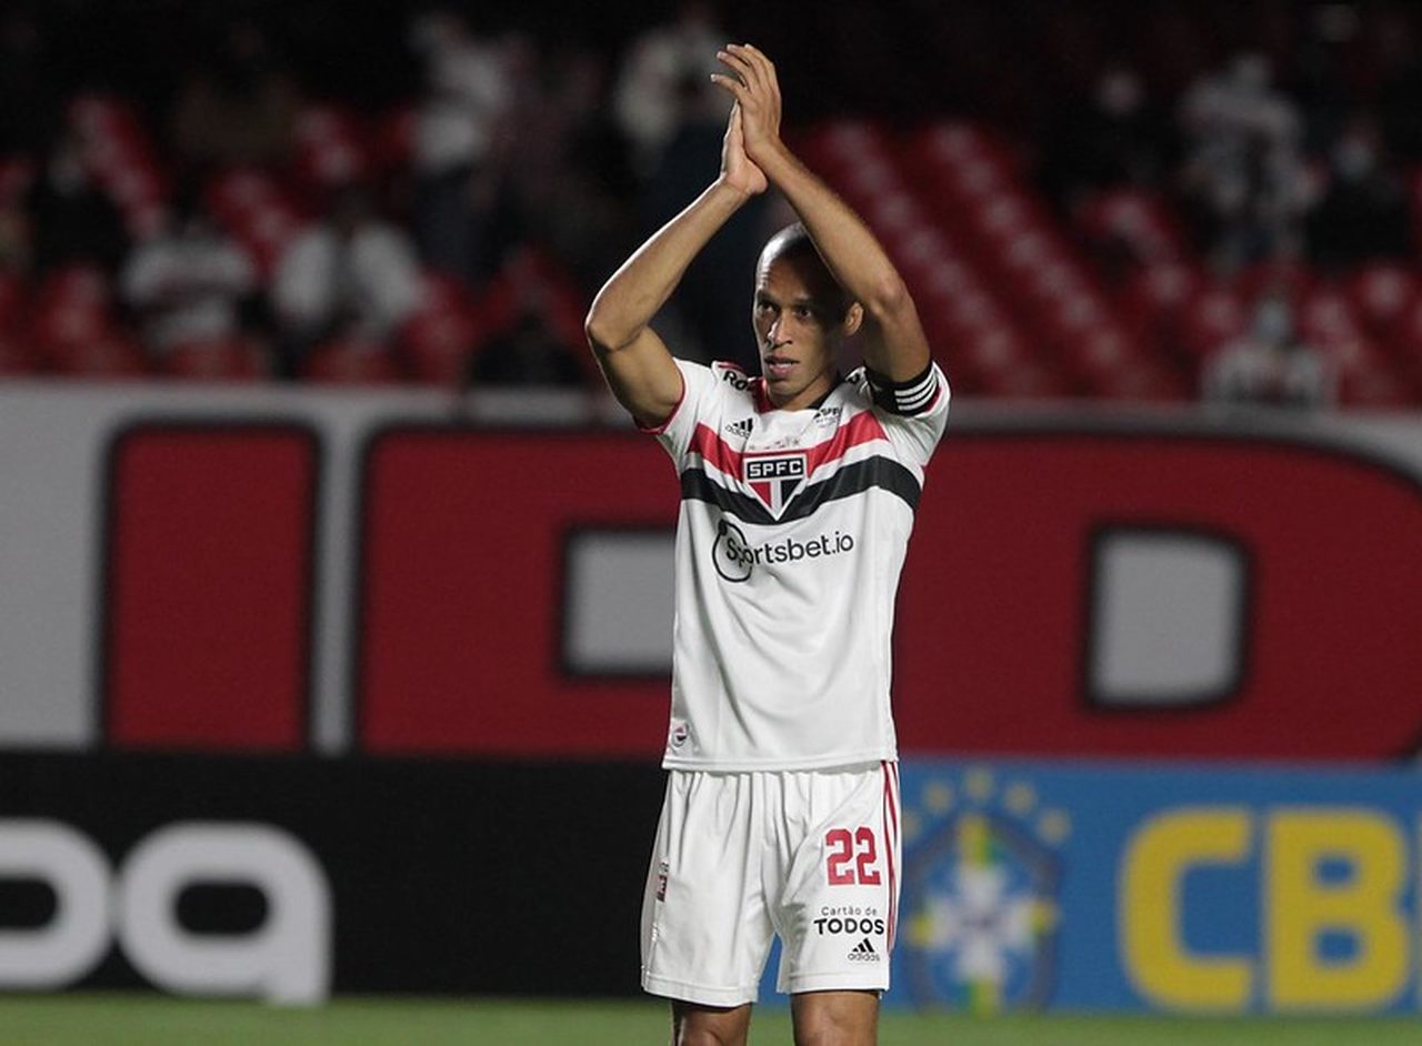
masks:
[[[1422,11],[17,0],[0,377],[596,388],[590,296],[714,175],[715,48],[880,233],[961,392],[1422,402]],[[688,273],[754,365],[758,200]]]

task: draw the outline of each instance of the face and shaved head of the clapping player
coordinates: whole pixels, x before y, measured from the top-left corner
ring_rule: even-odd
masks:
[[[857,316],[857,307],[846,316],[842,300],[818,257],[781,256],[759,267],[752,320],[765,391],[778,408],[809,406],[833,388],[836,354]]]

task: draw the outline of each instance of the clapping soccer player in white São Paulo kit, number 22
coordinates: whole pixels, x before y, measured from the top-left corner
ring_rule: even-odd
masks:
[[[781,141],[769,58],[717,57],[735,99],[720,176],[587,316],[609,387],[681,476],[643,986],[671,999],[675,1043],[744,1043],[778,934],[796,1043],[873,1043],[899,893],[890,627],[948,387],[883,247]],[[761,374],[674,360],[651,317],[769,185],[801,222],[757,266]],[[865,365],[842,377],[856,333]]]

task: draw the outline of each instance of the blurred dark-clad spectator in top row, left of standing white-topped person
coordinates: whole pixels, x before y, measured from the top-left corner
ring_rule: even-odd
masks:
[[[282,166],[292,156],[300,107],[296,81],[282,68],[257,23],[237,17],[219,30],[213,51],[178,88],[169,135],[186,171]]]

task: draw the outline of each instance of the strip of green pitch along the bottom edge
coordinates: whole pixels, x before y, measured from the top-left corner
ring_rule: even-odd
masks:
[[[638,1046],[667,1042],[654,1002],[341,999],[317,1009],[134,996],[0,996],[4,1046]],[[1422,1042],[1422,1018],[1216,1020],[886,1015],[883,1046],[1368,1046]],[[784,1010],[751,1042],[789,1043]]]

